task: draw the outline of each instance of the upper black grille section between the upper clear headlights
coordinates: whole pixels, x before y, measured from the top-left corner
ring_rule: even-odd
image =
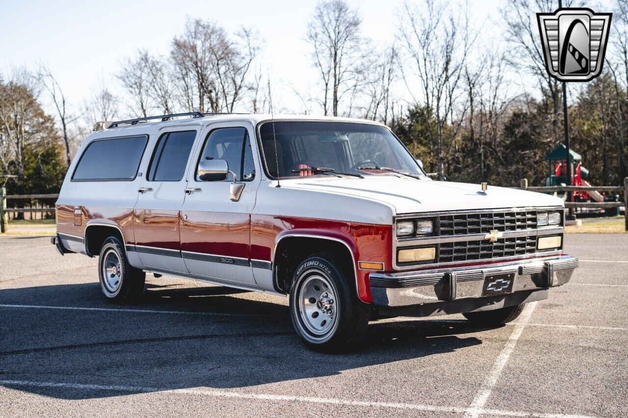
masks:
[[[507,212],[460,213],[438,216],[438,233],[441,237],[536,229],[536,210]]]

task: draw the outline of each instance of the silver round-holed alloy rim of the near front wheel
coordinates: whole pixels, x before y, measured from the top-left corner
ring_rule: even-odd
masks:
[[[301,285],[298,295],[301,323],[316,336],[323,336],[337,322],[337,298],[327,277],[313,274]]]

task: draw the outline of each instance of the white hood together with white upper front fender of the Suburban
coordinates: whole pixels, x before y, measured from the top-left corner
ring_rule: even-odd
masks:
[[[257,192],[256,212],[390,224],[394,215],[497,208],[563,206],[555,196],[479,184],[413,179],[398,174],[309,176],[269,182]],[[276,189],[276,190],[275,190]]]

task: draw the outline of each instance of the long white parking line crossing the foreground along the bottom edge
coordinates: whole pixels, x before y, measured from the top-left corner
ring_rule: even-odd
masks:
[[[311,404],[425,410],[425,411],[430,411],[430,412],[454,412],[458,414],[462,414],[463,412],[467,410],[465,408],[460,408],[460,407],[448,407],[448,406],[440,406],[440,405],[422,405],[422,404],[405,404],[405,403],[398,403],[398,402],[378,402],[378,401],[370,401],[370,400],[318,398],[318,397],[311,397],[311,396],[246,394],[246,393],[240,393],[240,392],[228,392],[225,390],[212,390],[212,389],[165,389],[165,388],[154,388],[154,387],[136,387],[136,386],[119,386],[119,385],[91,385],[91,384],[83,384],[83,383],[31,382],[28,380],[0,380],[0,385],[63,388],[63,389],[78,389],[78,390],[110,390],[114,392],[139,392],[139,393],[160,392],[160,393],[200,395],[200,396],[210,396],[210,397],[220,397],[220,398],[307,402]],[[499,409],[482,409],[480,410],[480,412],[482,412],[482,414],[487,414],[487,415],[502,415],[502,416],[507,416],[507,417],[592,418],[592,417],[587,417],[586,415],[546,414],[546,413],[522,412],[522,411],[499,410]]]

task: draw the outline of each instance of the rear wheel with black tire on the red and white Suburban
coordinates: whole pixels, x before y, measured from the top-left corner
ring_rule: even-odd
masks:
[[[117,237],[109,237],[102,244],[98,276],[102,293],[112,303],[133,303],[144,291],[146,273],[129,264]]]

